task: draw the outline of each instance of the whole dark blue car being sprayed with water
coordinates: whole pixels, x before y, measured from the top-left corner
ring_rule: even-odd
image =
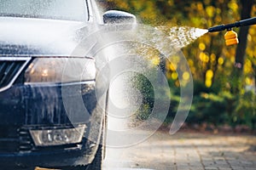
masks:
[[[78,51],[96,26],[125,20],[99,17],[93,0],[0,0],[0,169],[102,168],[108,93],[96,77],[108,56]]]

